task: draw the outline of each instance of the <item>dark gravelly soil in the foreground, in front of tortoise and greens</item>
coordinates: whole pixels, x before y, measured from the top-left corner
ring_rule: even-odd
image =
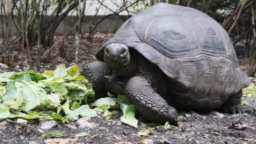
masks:
[[[156,129],[147,137],[136,136],[147,126],[129,127],[120,123],[120,115],[107,120],[99,114],[65,125],[54,121],[22,125],[5,120],[0,122],[0,144],[138,144],[142,139],[151,139],[155,144],[256,144],[256,99],[247,98],[245,101],[250,106],[243,106],[244,114],[179,112],[185,120],[176,131]],[[66,131],[66,136],[44,139],[39,128],[48,132]],[[81,132],[88,135],[74,138],[76,133]]]

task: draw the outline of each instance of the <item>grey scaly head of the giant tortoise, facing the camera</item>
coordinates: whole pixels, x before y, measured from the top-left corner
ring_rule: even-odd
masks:
[[[130,61],[128,47],[119,43],[107,45],[104,50],[104,61],[112,67],[112,69],[124,67]]]

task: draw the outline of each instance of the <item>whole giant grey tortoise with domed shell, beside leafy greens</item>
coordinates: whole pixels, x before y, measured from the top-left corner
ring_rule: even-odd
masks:
[[[96,95],[123,93],[139,113],[177,124],[175,108],[242,113],[249,78],[229,35],[194,8],[157,3],[128,19],[83,67]]]

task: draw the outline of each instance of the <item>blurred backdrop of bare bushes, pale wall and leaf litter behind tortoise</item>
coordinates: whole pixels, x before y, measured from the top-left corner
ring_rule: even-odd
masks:
[[[0,72],[82,66],[131,16],[155,3],[203,11],[228,32],[256,77],[256,0],[0,0]]]

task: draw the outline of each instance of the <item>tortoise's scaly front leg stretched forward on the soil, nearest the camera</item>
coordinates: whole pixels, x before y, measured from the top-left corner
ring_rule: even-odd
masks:
[[[147,119],[155,122],[178,124],[176,109],[153,90],[147,80],[140,76],[132,77],[126,87],[125,94]]]

